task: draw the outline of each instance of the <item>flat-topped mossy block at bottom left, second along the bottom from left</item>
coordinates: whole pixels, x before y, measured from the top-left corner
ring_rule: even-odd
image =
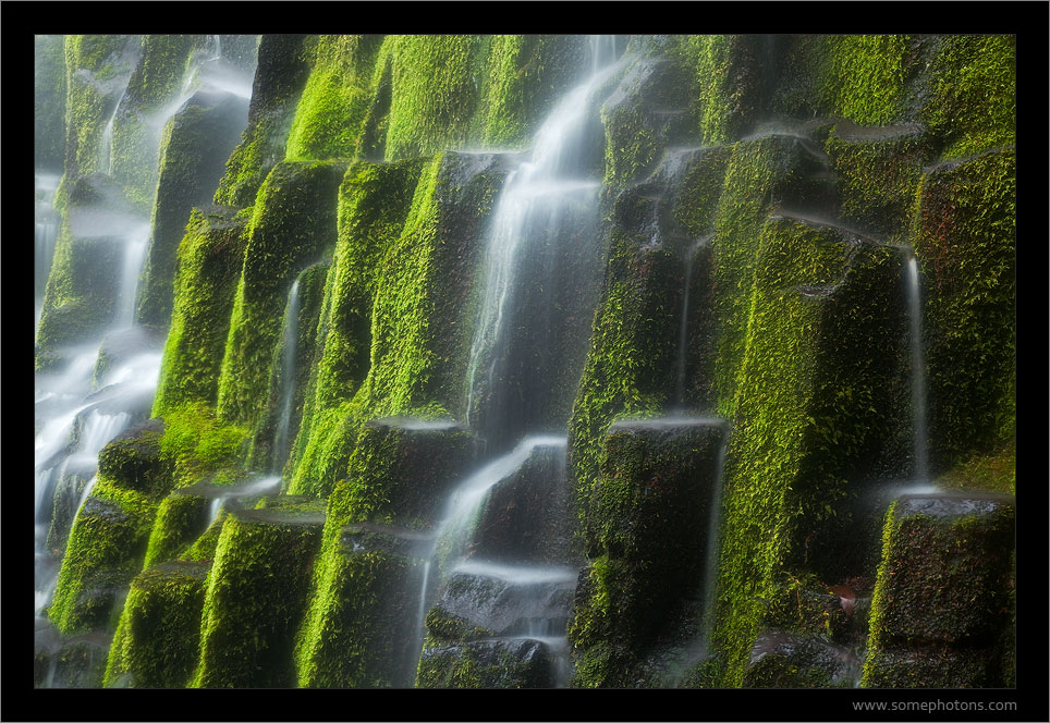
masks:
[[[231,510],[208,574],[200,658],[188,687],[293,687],[292,646],[303,618],[323,506],[280,498]]]

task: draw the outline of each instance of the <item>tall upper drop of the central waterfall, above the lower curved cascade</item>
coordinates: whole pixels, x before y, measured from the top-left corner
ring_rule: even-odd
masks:
[[[601,184],[590,177],[596,159],[588,140],[597,123],[596,90],[619,65],[608,64],[608,41],[594,41],[591,49],[594,72],[540,126],[527,159],[508,175],[491,222],[466,419],[497,452],[525,433],[555,430],[551,378],[576,362],[564,348],[578,333],[571,324],[593,311],[586,290],[600,270],[595,248],[581,244],[596,243],[596,234],[582,229],[594,222]],[[512,360],[524,356],[529,367],[514,368]]]

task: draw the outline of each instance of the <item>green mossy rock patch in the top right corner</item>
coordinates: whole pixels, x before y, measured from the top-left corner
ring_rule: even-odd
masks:
[[[944,36],[930,65],[923,109],[943,158],[1013,145],[1016,62],[1012,35]]]

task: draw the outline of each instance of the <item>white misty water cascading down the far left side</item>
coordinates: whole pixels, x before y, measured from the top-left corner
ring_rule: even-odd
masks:
[[[210,74],[196,73],[197,65],[203,62],[218,64],[221,60],[218,36],[211,37],[215,39],[213,48],[204,53],[206,57],[191,64],[187,77],[195,78],[194,85],[234,91],[241,97],[249,96],[251,78],[243,77],[235,69],[216,69]],[[103,173],[113,171],[113,126],[126,96],[125,88],[100,134],[98,169]],[[156,131],[150,152],[159,152],[160,128],[187,97],[178,98],[157,115],[147,119]],[[57,176],[37,173],[34,262],[37,279],[37,324],[40,321],[44,284],[50,271],[58,229],[58,219],[51,208],[57,185]],[[120,285],[114,290],[115,298],[112,299],[111,326],[100,330],[97,339],[77,348],[59,350],[62,362],[56,367],[57,370],[39,371],[35,378],[34,577],[38,629],[41,625],[47,625],[39,616],[45,613],[54,592],[58,562],[63,554],[63,550],[48,549],[49,532],[53,531],[52,526],[57,519],[57,490],[65,486],[73,491],[66,492],[66,495],[76,493],[72,500],[76,500],[78,514],[96,482],[94,469],[101,449],[136,419],[145,420],[161,362],[159,351],[139,350],[137,354],[111,359],[109,371],[96,378],[96,362],[106,352],[103,339],[127,333],[134,327],[135,296],[149,244],[150,224],[146,220],[137,220],[121,211],[114,211],[105,201],[84,210],[81,218],[87,219],[87,223],[95,226],[86,235],[108,235],[123,241],[122,269]],[[99,231],[99,226],[106,226],[105,231]],[[75,228],[73,232],[78,233]],[[75,514],[71,522],[66,520],[69,528],[74,524]]]

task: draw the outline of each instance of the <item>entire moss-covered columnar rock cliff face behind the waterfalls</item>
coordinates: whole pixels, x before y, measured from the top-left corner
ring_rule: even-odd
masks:
[[[129,294],[166,340],[72,523],[84,425],[37,462],[38,686],[1013,685],[1013,37],[36,48],[38,380]],[[501,192],[588,78],[593,209],[558,189],[569,253],[510,286],[559,323],[472,385]],[[442,568],[526,433],[565,455],[491,473],[463,554],[503,567]]]

